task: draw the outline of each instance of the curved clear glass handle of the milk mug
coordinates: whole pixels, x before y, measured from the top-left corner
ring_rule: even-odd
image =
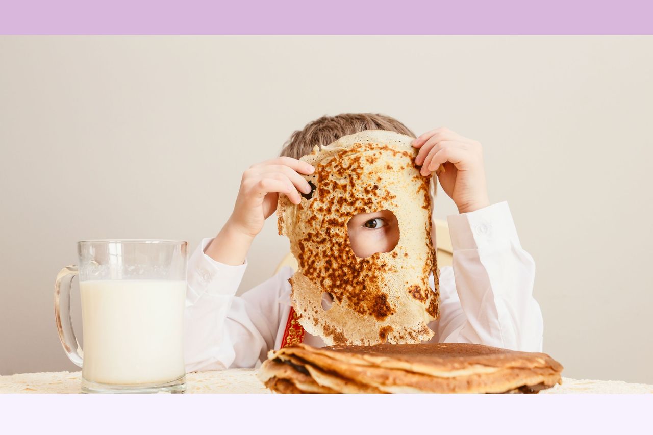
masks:
[[[71,319],[71,286],[72,278],[79,274],[76,265],[67,266],[61,269],[54,283],[54,318],[57,321],[57,331],[59,331],[59,340],[61,346],[66,351],[69,359],[78,367],[82,366],[84,353],[80,347],[75,332],[72,330]],[[61,291],[61,282],[67,280]],[[63,293],[63,306],[61,306],[61,295]]]

